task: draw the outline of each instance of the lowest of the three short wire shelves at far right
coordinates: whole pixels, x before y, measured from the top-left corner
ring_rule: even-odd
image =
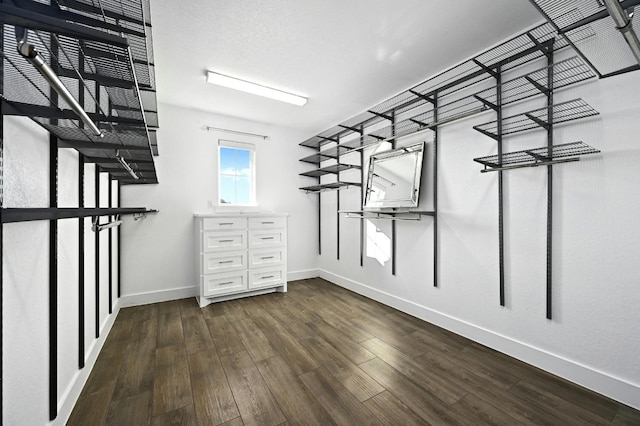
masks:
[[[541,165],[553,162],[554,160],[579,157],[581,155],[597,154],[600,151],[587,145],[586,143],[570,142],[553,147],[543,147],[514,151],[499,155],[489,155],[487,157],[474,158],[473,161],[492,169],[519,168]],[[502,158],[500,158],[502,157]]]

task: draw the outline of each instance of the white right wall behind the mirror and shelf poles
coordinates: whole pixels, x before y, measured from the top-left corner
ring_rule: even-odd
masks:
[[[396,276],[390,262],[365,259],[360,268],[357,220],[340,219],[337,261],[335,194],[323,195],[321,275],[640,408],[638,73],[562,91],[556,101],[577,97],[600,115],[558,127],[555,143],[583,140],[602,153],[554,167],[553,320],[545,318],[544,168],[505,172],[506,306],[499,305],[498,175],[481,174],[472,161],[497,152],[472,129],[494,120],[492,113],[441,129],[439,288],[428,217],[398,223]],[[543,131],[506,140],[505,152],[546,143]],[[342,205],[357,205],[357,196],[344,191]],[[374,222],[389,235],[388,223]]]

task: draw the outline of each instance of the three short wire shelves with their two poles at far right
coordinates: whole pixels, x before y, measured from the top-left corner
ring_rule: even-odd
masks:
[[[476,125],[473,128],[497,142],[497,154],[475,159],[485,166],[483,172],[498,172],[498,244],[500,274],[500,305],[505,306],[505,250],[504,250],[504,186],[503,171],[545,165],[547,169],[547,266],[546,266],[546,317],[552,319],[553,289],[553,165],[560,162],[579,160],[579,155],[598,152],[584,142],[554,145],[553,129],[555,125],[593,117],[598,112],[582,99],[554,103],[554,91],[593,76],[587,67],[577,58],[554,63],[553,45],[538,44],[547,60],[547,67],[533,74],[501,84],[501,70],[496,69],[495,103],[486,102],[481,96],[477,99],[487,103],[496,112],[494,121]],[[491,94],[491,93],[489,93]],[[503,108],[514,100],[520,100],[534,94],[544,95],[547,105],[528,112],[509,117],[503,116]],[[512,153],[503,152],[503,139],[508,135],[533,129],[546,131],[547,146]]]

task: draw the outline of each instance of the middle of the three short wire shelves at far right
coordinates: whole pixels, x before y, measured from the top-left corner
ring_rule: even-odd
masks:
[[[547,117],[549,110],[551,110],[553,114],[553,124],[593,117],[599,114],[598,111],[593,109],[584,100],[574,99],[555,104],[550,107],[543,107],[511,117],[506,117],[502,120],[502,135],[504,136],[524,132],[526,130],[548,125]],[[473,128],[494,139],[498,138],[497,121],[490,121],[488,123],[473,126]]]

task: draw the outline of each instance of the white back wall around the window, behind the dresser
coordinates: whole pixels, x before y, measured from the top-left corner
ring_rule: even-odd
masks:
[[[218,139],[256,145],[260,209],[289,214],[289,279],[317,274],[317,197],[298,190],[307,154],[300,132],[241,119],[159,105],[158,185],[126,185],[122,204],[159,210],[122,226],[123,304],[151,303],[196,294],[194,212],[213,211],[217,200]],[[205,126],[269,136],[268,140],[207,131]]]

